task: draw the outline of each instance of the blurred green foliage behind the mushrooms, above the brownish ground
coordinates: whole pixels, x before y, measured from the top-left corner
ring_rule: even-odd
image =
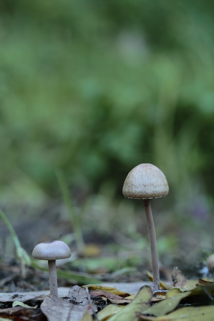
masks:
[[[55,194],[57,168],[74,189],[116,193],[146,162],[177,199],[213,193],[211,1],[0,6],[2,196],[28,198],[26,182]]]

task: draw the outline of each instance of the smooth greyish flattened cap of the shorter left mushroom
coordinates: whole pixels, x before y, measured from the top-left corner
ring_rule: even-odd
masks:
[[[69,246],[61,240],[37,244],[32,252],[32,257],[37,259],[55,260],[71,256]]]

